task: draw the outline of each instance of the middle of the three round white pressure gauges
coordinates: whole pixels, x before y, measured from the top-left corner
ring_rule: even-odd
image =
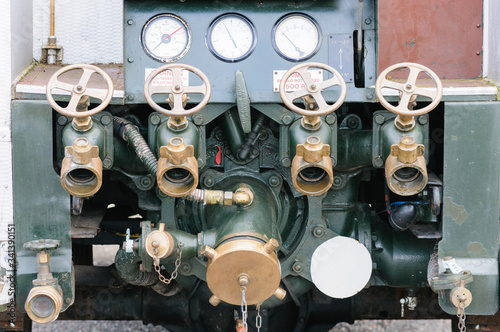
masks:
[[[225,14],[215,19],[207,31],[207,46],[215,57],[237,62],[252,54],[257,33],[252,22],[238,14]]]

